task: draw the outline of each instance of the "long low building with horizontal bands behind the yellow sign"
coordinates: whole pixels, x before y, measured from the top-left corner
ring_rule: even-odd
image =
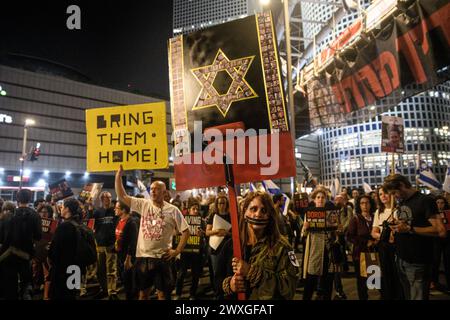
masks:
[[[27,128],[26,151],[40,144],[40,155],[37,161],[25,161],[23,186],[41,193],[48,183],[61,179],[66,179],[75,193],[87,182],[104,182],[104,188],[114,189],[112,173],[86,172],[86,109],[165,101],[171,141],[167,99],[96,86],[76,71],[48,61],[13,60],[9,66],[0,65],[0,197],[13,199],[19,187],[26,119],[35,122]],[[168,184],[172,172],[173,168],[158,170],[154,178]]]

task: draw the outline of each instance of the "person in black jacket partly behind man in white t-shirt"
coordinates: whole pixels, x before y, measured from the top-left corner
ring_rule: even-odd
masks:
[[[136,219],[130,216],[130,207],[123,202],[116,203],[115,213],[120,218],[116,226],[115,244],[119,275],[127,300],[134,300],[137,298],[137,290],[133,286],[133,265],[136,260],[138,225]]]

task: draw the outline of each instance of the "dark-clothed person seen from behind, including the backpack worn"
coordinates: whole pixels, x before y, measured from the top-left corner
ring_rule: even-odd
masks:
[[[88,265],[96,261],[94,235],[81,223],[81,214],[78,200],[70,198],[64,201],[61,211],[64,222],[56,229],[48,254],[51,300],[75,300],[81,275]],[[76,274],[77,268],[80,278],[69,281],[73,284],[69,286],[67,280]]]

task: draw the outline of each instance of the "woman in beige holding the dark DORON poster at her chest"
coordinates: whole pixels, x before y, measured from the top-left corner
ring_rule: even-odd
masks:
[[[325,208],[328,192],[323,188],[316,188],[311,194],[311,198],[314,201],[313,208]],[[303,300],[312,299],[318,283],[321,287],[321,292],[318,292],[319,298],[331,300],[334,274],[338,268],[333,254],[333,248],[337,244],[337,235],[335,231],[312,231],[309,229],[310,222],[305,218],[302,230],[307,237],[303,263],[303,277],[305,278]]]

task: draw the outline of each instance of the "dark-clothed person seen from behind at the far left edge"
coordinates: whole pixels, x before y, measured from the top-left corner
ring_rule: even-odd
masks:
[[[31,300],[32,272],[31,259],[34,255],[34,243],[42,237],[42,224],[39,215],[28,204],[32,193],[22,189],[17,193],[19,207],[13,215],[3,222],[4,234],[0,249],[2,264],[1,282],[3,298]],[[20,297],[18,284],[20,279]]]

